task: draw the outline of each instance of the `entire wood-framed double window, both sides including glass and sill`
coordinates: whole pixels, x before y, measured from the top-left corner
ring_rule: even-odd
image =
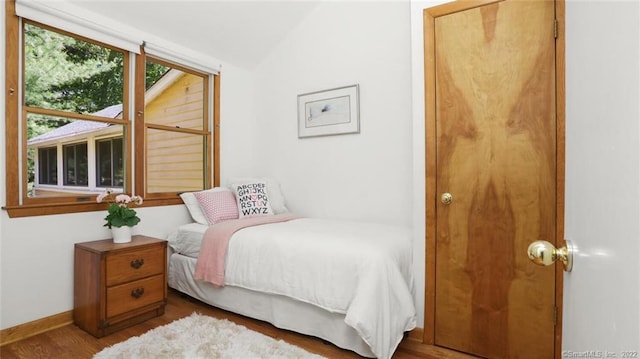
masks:
[[[103,210],[95,196],[106,187],[154,206],[218,185],[217,75],[20,18],[5,4],[10,217]]]

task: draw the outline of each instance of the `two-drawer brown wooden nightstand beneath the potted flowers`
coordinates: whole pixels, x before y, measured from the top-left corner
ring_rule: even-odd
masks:
[[[95,337],[164,314],[167,241],[136,235],[76,243],[73,321]]]

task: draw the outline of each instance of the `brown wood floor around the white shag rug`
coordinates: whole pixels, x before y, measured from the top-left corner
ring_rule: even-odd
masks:
[[[0,358],[91,358],[102,348],[125,341],[129,337],[141,335],[150,329],[168,324],[176,319],[186,317],[193,312],[210,315],[215,318],[226,318],[239,325],[255,330],[276,339],[282,339],[297,345],[307,351],[327,358],[361,358],[359,355],[342,350],[324,341],[281,330],[273,325],[214,308],[193,298],[183,296],[174,290],[169,290],[168,303],[165,314],[161,317],[147,320],[133,327],[121,330],[103,338],[95,338],[75,325],[67,325],[18,342],[0,347]],[[394,359],[428,358],[421,353],[421,345],[411,339],[405,339],[393,356]]]

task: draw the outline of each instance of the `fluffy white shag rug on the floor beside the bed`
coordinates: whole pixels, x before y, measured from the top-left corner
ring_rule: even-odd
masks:
[[[226,319],[198,313],[105,348],[93,358],[323,359]]]

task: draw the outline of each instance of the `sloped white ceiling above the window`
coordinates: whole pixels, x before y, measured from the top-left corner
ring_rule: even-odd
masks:
[[[71,0],[167,41],[244,68],[255,67],[316,1]]]

